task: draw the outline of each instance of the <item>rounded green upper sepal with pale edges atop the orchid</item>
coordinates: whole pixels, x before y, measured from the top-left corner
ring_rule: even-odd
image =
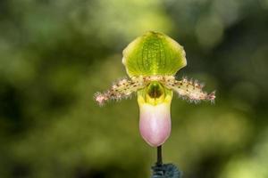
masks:
[[[124,49],[122,63],[130,77],[174,76],[187,65],[183,47],[171,37],[153,31],[139,36]]]

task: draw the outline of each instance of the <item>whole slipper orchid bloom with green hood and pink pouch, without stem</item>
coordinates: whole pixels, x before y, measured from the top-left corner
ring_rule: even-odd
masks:
[[[171,134],[173,92],[188,101],[214,101],[214,92],[203,92],[197,81],[175,79],[177,71],[187,65],[185,52],[162,33],[150,31],[136,38],[124,49],[122,63],[129,78],[96,93],[95,100],[103,105],[138,93],[139,131],[152,147],[162,145]]]

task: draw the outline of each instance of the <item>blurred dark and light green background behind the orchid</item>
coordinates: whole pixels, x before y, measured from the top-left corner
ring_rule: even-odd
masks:
[[[93,101],[147,30],[185,47],[179,78],[217,91],[215,104],[174,97],[164,162],[184,178],[268,177],[267,0],[1,0],[1,178],[150,176],[136,97]]]

